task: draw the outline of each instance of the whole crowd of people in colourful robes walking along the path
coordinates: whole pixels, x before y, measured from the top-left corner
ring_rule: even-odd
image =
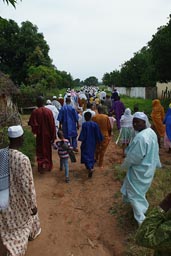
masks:
[[[161,140],[171,152],[171,104],[164,113],[160,100],[152,101],[152,124],[137,106],[131,111],[121,101],[115,89],[111,95],[98,87],[68,89],[65,95],[37,98],[28,125],[36,138],[37,169],[45,174],[53,169],[52,150],[59,155],[59,170],[65,170],[69,183],[69,158],[80,151],[88,179],[94,166],[104,168],[107,147],[116,126],[116,144],[123,150],[122,168],[126,176],[121,187],[123,201],[130,203],[133,215],[141,227],[146,219],[149,203],[146,193],[156,168],[161,167]],[[28,240],[40,232],[36,193],[31,164],[19,151],[24,131],[20,125],[8,128],[9,146],[0,150],[0,248],[2,256],[22,256]],[[81,146],[78,147],[78,141]],[[21,216],[22,215],[22,216]]]

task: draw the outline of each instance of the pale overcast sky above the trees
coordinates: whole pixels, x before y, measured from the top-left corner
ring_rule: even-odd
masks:
[[[166,25],[171,0],[0,0],[0,15],[43,33],[58,70],[85,80],[120,69]]]

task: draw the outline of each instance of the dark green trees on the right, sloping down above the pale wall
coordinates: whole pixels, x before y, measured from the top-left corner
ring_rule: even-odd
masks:
[[[108,86],[152,87],[157,81],[171,81],[171,15],[166,26],[158,29],[147,47],[122,64],[121,70],[105,73]]]

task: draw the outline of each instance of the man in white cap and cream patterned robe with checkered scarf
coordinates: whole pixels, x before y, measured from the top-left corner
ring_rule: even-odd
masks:
[[[22,127],[9,127],[8,137],[9,147],[0,150],[0,255],[22,256],[41,228],[30,160],[18,151]]]

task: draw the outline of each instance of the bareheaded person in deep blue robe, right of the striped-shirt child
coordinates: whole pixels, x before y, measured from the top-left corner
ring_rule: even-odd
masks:
[[[88,177],[92,177],[94,163],[95,163],[95,150],[97,143],[103,140],[103,135],[97,123],[91,121],[92,114],[87,111],[84,114],[86,122],[83,123],[80,136],[81,141],[81,163],[85,164],[88,170]]]

